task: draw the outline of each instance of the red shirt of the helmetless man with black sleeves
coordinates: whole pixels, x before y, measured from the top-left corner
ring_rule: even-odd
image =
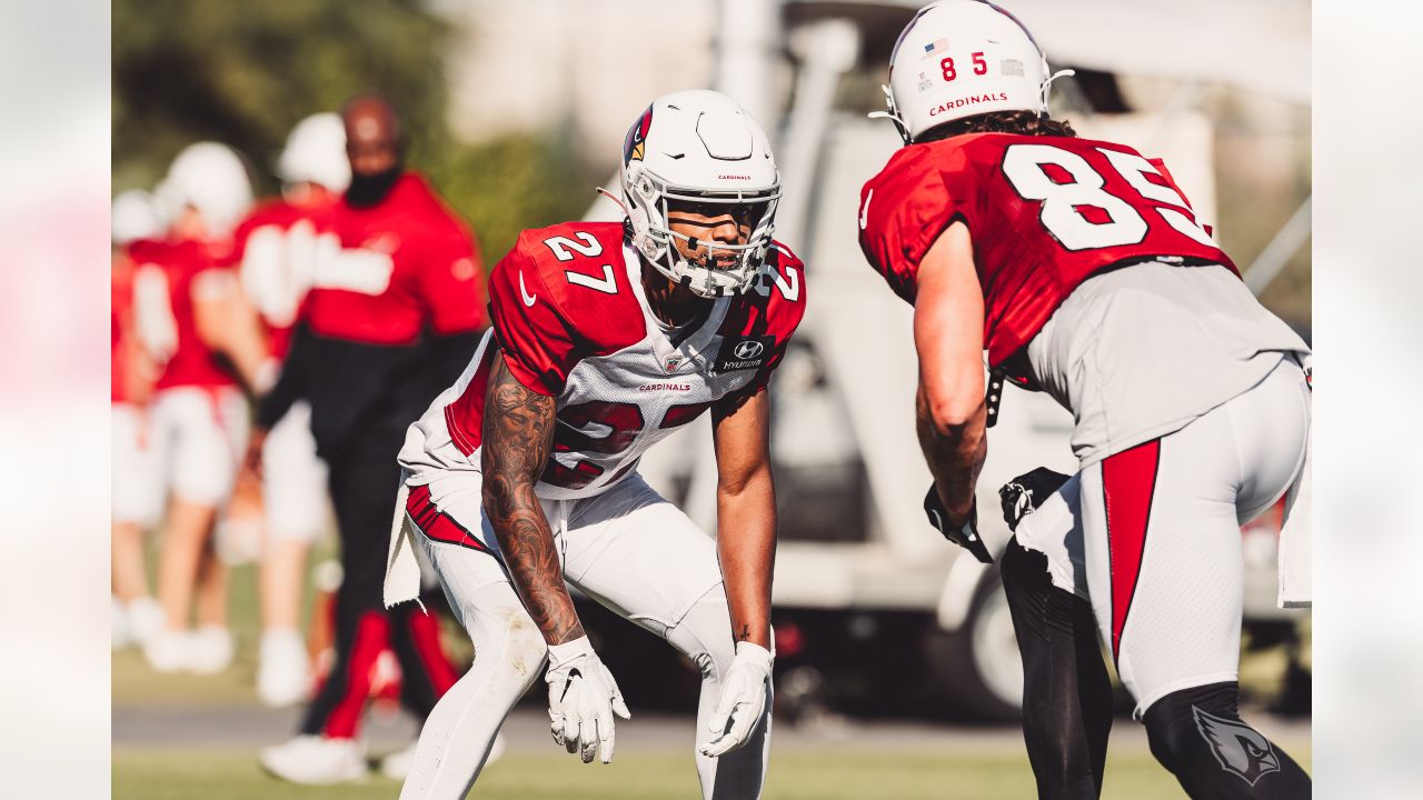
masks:
[[[303,316],[319,336],[408,346],[485,325],[474,235],[414,174],[373,206],[343,198],[323,226]]]

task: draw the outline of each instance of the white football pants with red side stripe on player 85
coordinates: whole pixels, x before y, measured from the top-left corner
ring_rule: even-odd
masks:
[[[1053,584],[1091,602],[1138,719],[1171,692],[1238,678],[1241,525],[1281,497],[1288,520],[1309,414],[1285,359],[1184,428],[1086,467],[1019,524]]]

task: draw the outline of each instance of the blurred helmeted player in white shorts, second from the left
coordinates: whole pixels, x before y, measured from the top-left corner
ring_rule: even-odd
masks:
[[[158,561],[164,629],[144,653],[159,672],[208,673],[225,669],[235,649],[226,568],[212,532],[248,437],[239,376],[256,384],[266,357],[260,330],[245,323],[236,276],[222,266],[252,188],[235,151],[198,142],[178,154],[157,194],[171,219],[168,242],[139,268],[138,280],[166,285],[166,292],[139,295],[137,329],[148,356],[164,364],[152,428],[169,500]]]

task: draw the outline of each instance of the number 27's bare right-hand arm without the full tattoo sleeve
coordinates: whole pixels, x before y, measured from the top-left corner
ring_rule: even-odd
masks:
[[[717,461],[717,557],[737,642],[771,648],[776,487],[770,400],[764,391],[713,407]]]

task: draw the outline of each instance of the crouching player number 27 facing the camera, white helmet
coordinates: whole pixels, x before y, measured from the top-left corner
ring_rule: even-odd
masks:
[[[565,579],[700,668],[703,796],[760,794],[776,549],[766,386],[805,307],[804,268],[771,239],[766,134],[726,95],[653,101],[628,131],[620,188],[623,222],[519,236],[490,278],[492,333],[400,453],[387,604],[417,591],[421,548],[477,652],[421,730],[407,800],[465,796],[545,659],[555,742],[612,760],[628,707]],[[643,451],[707,410],[714,541],[638,474]]]

